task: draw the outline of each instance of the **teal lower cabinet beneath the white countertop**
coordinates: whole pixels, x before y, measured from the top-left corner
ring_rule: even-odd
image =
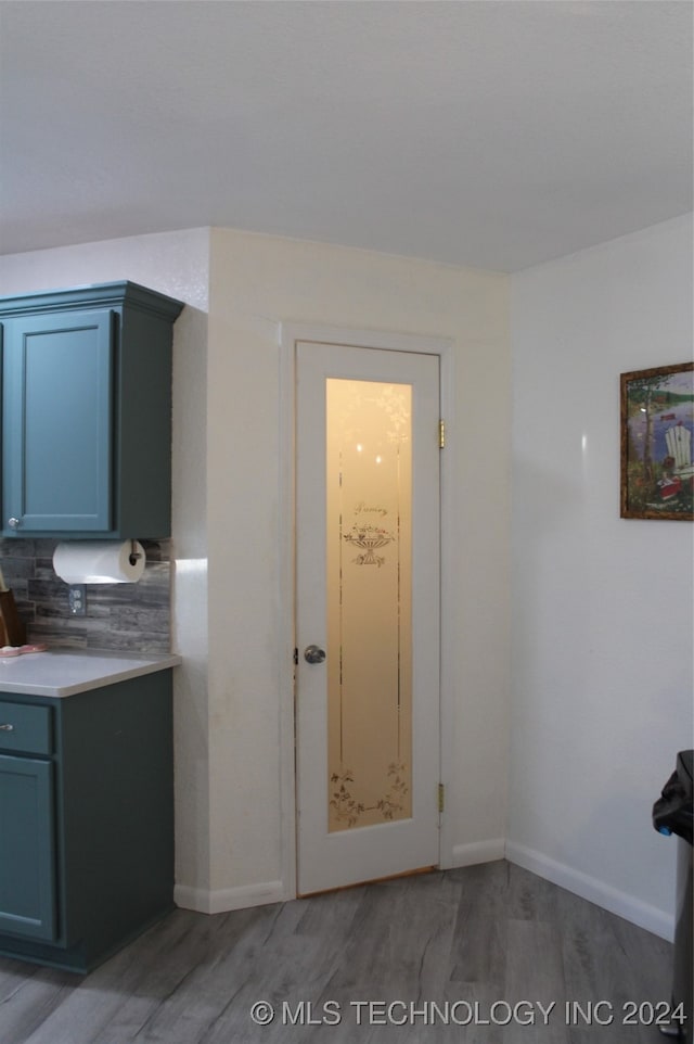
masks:
[[[83,973],[172,907],[171,671],[0,693],[0,953]]]

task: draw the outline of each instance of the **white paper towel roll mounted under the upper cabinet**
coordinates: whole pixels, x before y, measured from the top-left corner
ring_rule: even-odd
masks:
[[[53,551],[53,569],[66,584],[137,584],[144,563],[138,540],[70,540]]]

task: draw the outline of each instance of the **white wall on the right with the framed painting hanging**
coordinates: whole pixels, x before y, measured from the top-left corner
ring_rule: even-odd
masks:
[[[668,935],[651,807],[692,747],[686,522],[619,518],[619,373],[692,357],[691,218],[512,280],[507,855]]]

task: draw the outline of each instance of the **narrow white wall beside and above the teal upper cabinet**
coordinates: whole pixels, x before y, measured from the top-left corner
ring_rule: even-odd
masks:
[[[193,229],[0,257],[0,293],[129,279],[183,301],[174,336],[172,555],[177,878],[209,881],[206,355],[209,231]],[[137,535],[137,534],[134,534]]]

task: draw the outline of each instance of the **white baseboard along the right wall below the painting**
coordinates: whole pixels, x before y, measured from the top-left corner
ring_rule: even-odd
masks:
[[[651,906],[648,903],[643,903],[641,900],[628,895],[626,892],[620,892],[612,884],[605,884],[604,881],[600,881],[589,874],[583,874],[582,870],[576,870],[564,863],[557,863],[541,852],[527,849],[524,844],[517,844],[515,841],[506,841],[506,858],[510,863],[515,863],[553,884],[558,884],[560,888],[565,888],[567,891],[580,895],[589,903],[595,903],[596,906],[608,909],[611,914],[617,914],[618,917],[624,917],[625,920],[638,925],[639,928],[645,928],[654,935],[659,935],[668,942],[672,942],[674,938],[674,918],[672,916],[656,906]]]

